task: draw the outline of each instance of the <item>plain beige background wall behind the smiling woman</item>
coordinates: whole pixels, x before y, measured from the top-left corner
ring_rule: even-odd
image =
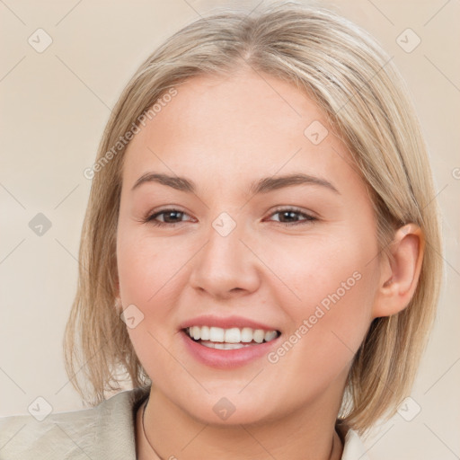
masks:
[[[84,169],[93,164],[110,109],[128,78],[157,45],[200,14],[219,5],[249,12],[258,4],[0,2],[0,416],[28,413],[39,396],[53,411],[82,407],[65,374],[62,337],[75,295],[79,236],[91,186]],[[459,458],[460,4],[323,4],[365,27],[394,57],[420,114],[443,213],[446,274],[438,321],[412,400],[402,411],[405,419],[419,406],[420,412],[410,421],[397,413],[376,427],[366,440],[368,455],[375,460]],[[28,39],[40,28],[52,43],[39,53]],[[46,36],[38,33],[42,46]],[[406,52],[397,42],[402,33],[410,34],[410,45],[419,37],[420,45]],[[41,236],[29,226],[38,213],[51,224]]]

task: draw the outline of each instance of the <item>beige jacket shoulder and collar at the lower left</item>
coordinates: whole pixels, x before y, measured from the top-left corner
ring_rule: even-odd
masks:
[[[135,459],[135,412],[148,395],[136,388],[81,411],[0,418],[0,460]]]

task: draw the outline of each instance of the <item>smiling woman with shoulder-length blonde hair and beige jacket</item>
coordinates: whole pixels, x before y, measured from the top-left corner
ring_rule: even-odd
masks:
[[[409,394],[441,279],[411,102],[356,25],[258,12],[191,23],[121,94],[66,328],[95,407],[2,420],[0,458],[364,459]]]

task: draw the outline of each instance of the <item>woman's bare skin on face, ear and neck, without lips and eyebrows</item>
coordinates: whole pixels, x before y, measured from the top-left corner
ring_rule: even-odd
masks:
[[[376,257],[367,186],[323,112],[294,85],[241,69],[177,89],[130,142],[122,171],[119,298],[144,314],[128,332],[153,381],[146,437],[164,459],[339,459],[334,423],[351,359],[374,318],[408,305],[420,228],[395,233],[394,264]],[[318,145],[304,135],[314,120],[329,131]],[[155,182],[131,190],[147,172],[185,176],[197,190]],[[321,177],[340,193],[312,184],[248,192],[252,181],[288,173]],[[275,214],[280,206],[301,214]],[[170,226],[143,222],[166,208],[185,214],[156,217]],[[236,223],[226,236],[212,226],[222,212]],[[180,340],[179,324],[200,314],[259,320],[288,339],[356,272],[354,286],[276,363],[216,369]],[[235,408],[227,420],[213,411],[222,397]],[[139,424],[138,458],[157,458]]]

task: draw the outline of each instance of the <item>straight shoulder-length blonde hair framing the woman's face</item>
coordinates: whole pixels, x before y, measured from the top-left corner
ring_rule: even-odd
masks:
[[[166,40],[129,81],[104,130],[93,172],[78,288],[66,325],[67,374],[91,404],[119,389],[117,368],[126,369],[133,387],[151,384],[114,307],[126,150],[117,143],[188,78],[228,75],[244,66],[295,84],[323,109],[371,192],[379,257],[391,257],[398,226],[415,223],[426,239],[410,304],[371,323],[349,371],[341,420],[365,433],[408,395],[434,321],[442,279],[438,204],[419,121],[392,59],[366,31],[318,6],[290,2],[257,14],[213,12]],[[90,389],[76,381],[80,371]]]

